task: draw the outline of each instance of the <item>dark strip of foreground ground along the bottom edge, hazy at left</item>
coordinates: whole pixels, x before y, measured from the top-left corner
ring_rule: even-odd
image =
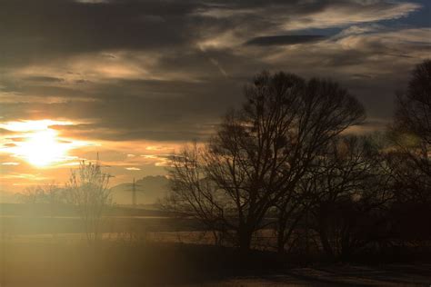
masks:
[[[272,252],[184,243],[3,242],[1,286],[429,286],[431,264],[301,267]]]

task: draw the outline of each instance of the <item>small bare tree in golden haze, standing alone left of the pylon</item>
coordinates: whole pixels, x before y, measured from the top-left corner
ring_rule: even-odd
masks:
[[[78,169],[71,171],[66,183],[68,199],[77,207],[89,243],[99,239],[103,214],[112,203],[109,178],[110,175],[102,172],[98,162],[82,161]]]

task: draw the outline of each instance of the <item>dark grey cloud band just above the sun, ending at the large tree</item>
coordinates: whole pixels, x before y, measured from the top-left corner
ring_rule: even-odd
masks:
[[[94,87],[95,101],[2,104],[5,120],[67,118],[92,124],[55,126],[65,134],[113,141],[179,141],[207,136],[208,126],[242,100],[241,85],[219,78],[206,83],[118,81]],[[65,100],[78,94],[64,90]],[[42,114],[42,113],[41,113]]]

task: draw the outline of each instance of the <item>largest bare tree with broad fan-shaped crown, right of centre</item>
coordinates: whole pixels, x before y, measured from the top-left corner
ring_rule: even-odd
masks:
[[[289,194],[319,149],[362,122],[364,109],[337,84],[294,74],[258,74],[245,94],[244,107],[227,114],[205,146],[199,168],[180,156],[171,176],[184,186],[181,193],[204,198],[210,208],[201,212],[216,211],[217,222],[246,251],[268,210],[279,206],[286,215]],[[183,184],[184,173],[191,180]]]

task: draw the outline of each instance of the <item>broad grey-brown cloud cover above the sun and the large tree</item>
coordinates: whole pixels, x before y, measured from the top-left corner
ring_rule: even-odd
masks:
[[[429,51],[426,40],[332,36],[408,15],[407,4],[2,0],[2,121],[71,119],[91,124],[57,128],[114,141],[202,138],[264,69],[333,76],[371,115],[387,117],[381,110],[393,101],[392,84],[406,83],[409,67]],[[313,31],[319,25],[334,31]],[[385,54],[406,57],[394,63],[380,59]]]

